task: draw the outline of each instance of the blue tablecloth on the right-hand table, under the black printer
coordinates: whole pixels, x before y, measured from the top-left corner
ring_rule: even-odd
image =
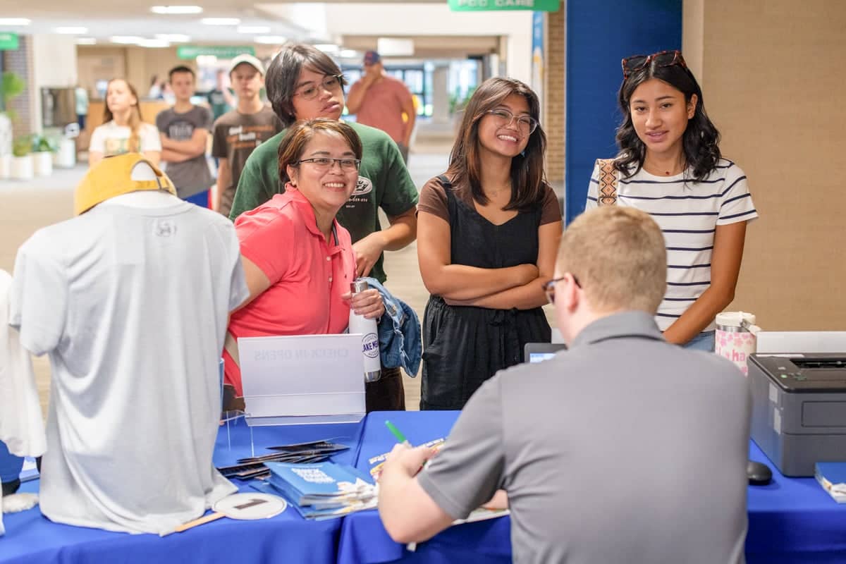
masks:
[[[368,459],[393,448],[395,439],[385,419],[397,424],[411,444],[446,437],[459,412],[370,413],[356,466],[369,470]],[[750,441],[750,458],[773,470],[770,485],[748,489],[748,564],[833,564],[846,562],[846,505],[838,505],[813,478],[780,474]],[[404,562],[511,561],[510,519],[448,528],[422,543],[415,552],[393,542],[375,511],[355,513],[341,526],[338,562],[375,564]]]

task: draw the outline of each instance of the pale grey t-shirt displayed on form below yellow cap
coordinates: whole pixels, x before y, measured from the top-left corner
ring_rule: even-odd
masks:
[[[211,455],[228,313],[249,294],[238,238],[149,195],[173,203],[97,205],[18,251],[10,316],[50,355],[41,512],[58,523],[157,534],[236,490]]]

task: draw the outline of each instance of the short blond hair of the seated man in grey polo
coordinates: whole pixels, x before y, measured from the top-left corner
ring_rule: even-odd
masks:
[[[649,214],[607,205],[586,211],[561,238],[556,264],[578,279],[597,311],[655,314],[667,290],[664,236]]]

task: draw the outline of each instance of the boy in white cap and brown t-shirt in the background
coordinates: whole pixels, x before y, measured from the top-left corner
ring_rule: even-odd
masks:
[[[214,123],[211,155],[218,159],[214,209],[229,216],[244,163],[255,147],[283,130],[282,122],[261,101],[264,65],[252,55],[233,58],[229,67],[238,107]]]

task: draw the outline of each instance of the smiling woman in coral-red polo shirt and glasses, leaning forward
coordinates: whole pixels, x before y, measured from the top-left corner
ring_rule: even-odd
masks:
[[[235,221],[250,298],[229,320],[223,352],[226,381],[242,396],[232,345],[239,337],[343,333],[349,309],[368,318],[384,312],[376,290],[350,296],[355,257],[335,215],[359,178],[361,141],[346,123],[295,123],[279,145],[285,193]]]

